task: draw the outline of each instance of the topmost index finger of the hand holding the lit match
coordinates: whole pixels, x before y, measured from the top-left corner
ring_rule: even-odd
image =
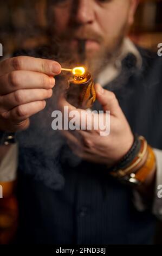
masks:
[[[18,56],[0,62],[0,76],[15,70],[30,70],[49,76],[60,74],[61,65],[54,60]]]

